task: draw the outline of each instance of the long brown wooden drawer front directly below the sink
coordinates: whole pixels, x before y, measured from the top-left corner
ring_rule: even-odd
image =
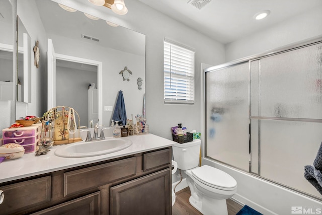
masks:
[[[64,173],[64,196],[86,191],[136,174],[136,158],[127,158]]]

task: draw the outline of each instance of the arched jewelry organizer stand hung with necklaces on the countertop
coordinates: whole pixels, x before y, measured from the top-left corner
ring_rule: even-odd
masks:
[[[60,110],[59,110],[60,109]],[[80,123],[78,113],[71,107],[57,106],[51,108],[44,113],[47,131],[49,135],[53,135],[54,145],[71,144],[73,142],[82,141],[80,131],[77,129],[76,116],[78,117],[78,127]],[[54,132],[51,132],[54,127]],[[78,130],[78,135],[75,137],[75,132]],[[72,138],[70,138],[72,136]]]

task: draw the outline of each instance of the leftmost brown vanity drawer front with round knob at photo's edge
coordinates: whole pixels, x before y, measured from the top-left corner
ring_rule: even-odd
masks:
[[[16,211],[49,202],[51,198],[51,177],[46,176],[24,182],[0,187],[5,193],[4,202],[0,204],[1,214]]]

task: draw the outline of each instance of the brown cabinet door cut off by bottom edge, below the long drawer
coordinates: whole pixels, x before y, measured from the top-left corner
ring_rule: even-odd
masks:
[[[100,192],[95,192],[80,198],[76,198],[65,203],[41,210],[33,213],[33,215],[46,214],[46,215],[96,215],[100,211]]]

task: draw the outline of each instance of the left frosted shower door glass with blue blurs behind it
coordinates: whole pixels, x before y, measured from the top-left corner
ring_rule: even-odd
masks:
[[[206,73],[206,156],[249,170],[249,63]]]

